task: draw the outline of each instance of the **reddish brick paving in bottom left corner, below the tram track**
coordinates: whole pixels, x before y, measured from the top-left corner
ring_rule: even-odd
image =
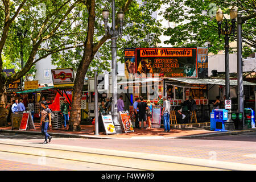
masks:
[[[0,159],[0,171],[67,171],[68,169]]]

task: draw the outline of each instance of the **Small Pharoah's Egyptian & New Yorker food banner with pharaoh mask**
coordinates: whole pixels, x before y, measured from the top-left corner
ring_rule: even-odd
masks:
[[[197,78],[197,48],[126,48],[125,73]]]

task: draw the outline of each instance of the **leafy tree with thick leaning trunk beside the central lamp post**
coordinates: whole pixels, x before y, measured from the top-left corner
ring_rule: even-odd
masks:
[[[84,47],[76,48],[75,51],[65,51],[52,55],[53,63],[57,64],[58,67],[73,67],[76,70],[69,130],[81,130],[80,100],[86,73],[93,75],[90,68],[97,69],[98,72],[110,71],[111,42],[109,41],[110,35],[105,36],[102,20],[104,3],[92,0],[86,1],[85,5],[86,11],[82,11],[77,22],[80,24],[80,31],[84,32],[83,35],[77,36],[77,39],[84,39]],[[160,8],[159,0],[140,2],[119,0],[115,1],[115,5],[125,12],[123,38],[118,39],[119,61],[123,62],[123,49],[126,47],[154,47],[156,43],[160,43],[161,24],[152,18],[152,12]],[[110,4],[107,3],[106,6],[111,10]],[[111,23],[111,18],[109,23]],[[147,42],[144,41],[146,38]]]

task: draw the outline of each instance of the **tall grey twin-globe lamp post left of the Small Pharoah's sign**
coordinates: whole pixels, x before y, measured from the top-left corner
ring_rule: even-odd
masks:
[[[111,113],[113,117],[113,122],[115,126],[115,130],[117,131],[117,134],[122,133],[121,126],[118,122],[118,112],[117,112],[117,38],[118,36],[122,36],[122,28],[123,28],[123,18],[125,14],[123,11],[118,12],[118,20],[120,27],[118,30],[115,29],[115,1],[112,1],[112,28],[108,26],[108,19],[109,19],[109,10],[105,9],[102,11],[104,24],[105,24],[105,35],[108,33],[111,35],[111,48],[112,48],[112,107],[111,107]]]

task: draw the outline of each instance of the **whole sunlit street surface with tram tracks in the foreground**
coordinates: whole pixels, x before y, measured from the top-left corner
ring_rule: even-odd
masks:
[[[0,134],[0,170],[256,170],[256,132],[196,139],[43,141],[43,136]]]

